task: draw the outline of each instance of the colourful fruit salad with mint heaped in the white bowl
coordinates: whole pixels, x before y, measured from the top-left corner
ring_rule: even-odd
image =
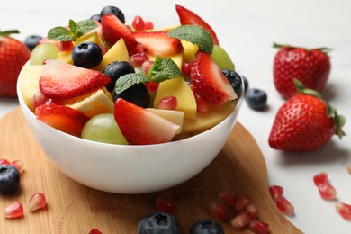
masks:
[[[23,67],[23,101],[39,121],[104,143],[146,145],[209,130],[233,112],[241,76],[216,33],[175,5],[179,23],[157,28],[121,9],[49,30]]]

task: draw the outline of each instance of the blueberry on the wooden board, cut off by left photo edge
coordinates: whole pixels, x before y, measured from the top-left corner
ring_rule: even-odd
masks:
[[[0,193],[12,193],[20,185],[21,174],[12,165],[0,164]]]

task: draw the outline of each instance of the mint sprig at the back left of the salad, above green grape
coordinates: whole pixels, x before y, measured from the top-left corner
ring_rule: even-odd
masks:
[[[48,39],[58,40],[58,41],[76,41],[84,34],[89,31],[94,30],[97,24],[93,20],[83,20],[75,22],[69,20],[68,28],[65,27],[55,27],[49,30]]]

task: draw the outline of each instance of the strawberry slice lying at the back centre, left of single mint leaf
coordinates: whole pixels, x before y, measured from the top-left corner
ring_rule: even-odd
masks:
[[[166,31],[135,31],[133,36],[152,56],[171,56],[183,49],[180,40],[168,37]]]

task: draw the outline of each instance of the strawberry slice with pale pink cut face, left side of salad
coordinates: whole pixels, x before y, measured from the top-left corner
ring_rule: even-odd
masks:
[[[49,59],[43,67],[39,85],[46,97],[62,100],[91,93],[110,81],[98,71]]]

